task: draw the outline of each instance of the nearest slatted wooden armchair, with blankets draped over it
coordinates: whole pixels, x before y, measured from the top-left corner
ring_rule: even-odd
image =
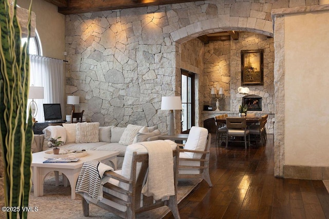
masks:
[[[145,184],[147,184],[149,180],[148,175],[151,171],[151,166],[149,166],[150,153],[148,152],[148,149],[143,146],[143,144],[157,144],[157,147],[163,147],[163,143],[170,145],[170,148],[172,149],[172,183],[174,184],[174,193],[172,195],[167,196],[168,190],[163,190],[162,188],[162,193],[164,193],[165,196],[162,198],[154,198],[154,194],[152,195],[152,193],[147,195],[143,193],[143,187]],[[107,171],[104,173],[106,177],[109,177],[109,181],[104,184],[103,198],[99,201],[90,201],[90,196],[88,194],[81,194],[83,215],[89,216],[89,203],[93,203],[122,218],[129,219],[136,218],[136,214],[138,213],[149,211],[162,206],[168,206],[169,209],[172,211],[174,218],[179,219],[180,215],[178,212],[177,205],[177,148],[177,144],[170,140],[157,140],[147,143],[142,142],[127,146],[122,164],[122,169],[115,171]],[[155,155],[155,157],[158,156],[159,155]],[[164,168],[166,168],[166,171],[164,172],[170,170],[168,169],[168,166],[164,166]],[[161,174],[163,171],[159,170],[157,172],[160,172]],[[163,177],[170,181],[170,177],[168,177],[167,175]],[[150,188],[150,186],[157,187],[159,184],[165,183],[162,179],[160,181],[161,182],[155,182],[153,185],[148,184],[148,188]]]

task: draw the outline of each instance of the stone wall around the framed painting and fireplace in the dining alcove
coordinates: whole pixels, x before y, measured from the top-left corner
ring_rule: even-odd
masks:
[[[263,98],[263,111],[274,111],[274,47],[273,38],[263,34],[240,32],[239,39],[210,42],[205,45],[205,104],[214,106],[211,88],[219,83],[224,88],[225,98],[221,100],[220,110],[238,111],[242,95],[237,92],[241,86],[241,50],[264,50],[264,85],[244,86],[250,94]]]

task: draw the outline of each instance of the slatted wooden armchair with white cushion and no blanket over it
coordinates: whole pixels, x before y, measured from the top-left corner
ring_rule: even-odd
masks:
[[[209,175],[211,134],[202,127],[191,127],[184,148],[179,148],[178,179],[202,178],[210,187]]]

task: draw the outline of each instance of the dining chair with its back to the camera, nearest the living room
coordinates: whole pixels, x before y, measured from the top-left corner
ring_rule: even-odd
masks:
[[[247,142],[250,147],[250,132],[249,129],[247,129],[247,122],[246,118],[240,118],[240,117],[227,117],[226,118],[226,148],[228,147],[228,142],[244,142],[245,143],[245,149],[247,149]],[[234,137],[233,140],[230,138]],[[244,141],[240,141],[239,138],[236,137],[243,137]]]

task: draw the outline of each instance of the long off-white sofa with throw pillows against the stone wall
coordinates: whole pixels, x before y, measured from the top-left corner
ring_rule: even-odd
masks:
[[[122,167],[123,157],[128,145],[158,140],[161,135],[156,127],[128,125],[127,127],[106,126],[99,123],[72,123],[63,126],[48,126],[44,134],[34,134],[32,153],[51,150],[48,146],[50,137],[61,136],[64,144],[60,149],[67,150],[106,150],[119,151],[117,168]]]

